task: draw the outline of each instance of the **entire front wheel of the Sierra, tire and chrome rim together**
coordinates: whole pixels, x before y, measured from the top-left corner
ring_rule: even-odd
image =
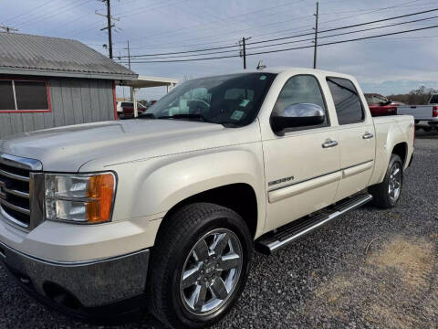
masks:
[[[244,289],[252,239],[233,210],[182,207],[163,223],[152,251],[150,310],[173,328],[201,328],[227,313]]]

